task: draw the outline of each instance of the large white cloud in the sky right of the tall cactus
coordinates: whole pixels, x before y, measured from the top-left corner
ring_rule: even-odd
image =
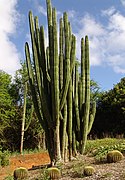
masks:
[[[77,57],[80,58],[80,39],[87,34],[91,65],[111,66],[115,72],[125,73],[125,16],[111,7],[102,11],[102,18],[106,18],[105,25],[88,13],[81,19],[77,17]]]

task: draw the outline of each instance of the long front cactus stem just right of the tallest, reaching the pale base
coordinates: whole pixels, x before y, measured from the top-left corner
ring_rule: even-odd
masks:
[[[55,150],[56,150],[56,158],[61,159],[60,154],[60,138],[59,138],[59,58],[58,58],[58,38],[57,38],[57,20],[56,20],[56,9],[53,8],[52,11],[52,20],[53,20],[53,67],[51,81],[52,81],[52,112],[53,112],[53,122],[55,122]]]

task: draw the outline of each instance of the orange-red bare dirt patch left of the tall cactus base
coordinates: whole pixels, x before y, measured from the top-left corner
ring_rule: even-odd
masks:
[[[30,169],[32,166],[39,166],[48,163],[50,163],[50,158],[47,153],[25,154],[11,157],[10,165],[0,168],[0,180],[3,180],[8,175],[12,175],[14,169],[17,167],[23,166]]]

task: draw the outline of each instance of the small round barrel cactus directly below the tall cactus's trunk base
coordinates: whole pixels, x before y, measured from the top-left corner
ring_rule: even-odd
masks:
[[[61,177],[60,170],[56,167],[48,168],[48,175],[49,175],[51,180],[59,179]]]

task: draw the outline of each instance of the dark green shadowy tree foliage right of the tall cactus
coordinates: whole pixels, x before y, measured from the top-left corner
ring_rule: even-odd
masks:
[[[102,93],[97,106],[92,133],[102,137],[103,133],[124,134],[125,132],[125,78],[113,89]]]

